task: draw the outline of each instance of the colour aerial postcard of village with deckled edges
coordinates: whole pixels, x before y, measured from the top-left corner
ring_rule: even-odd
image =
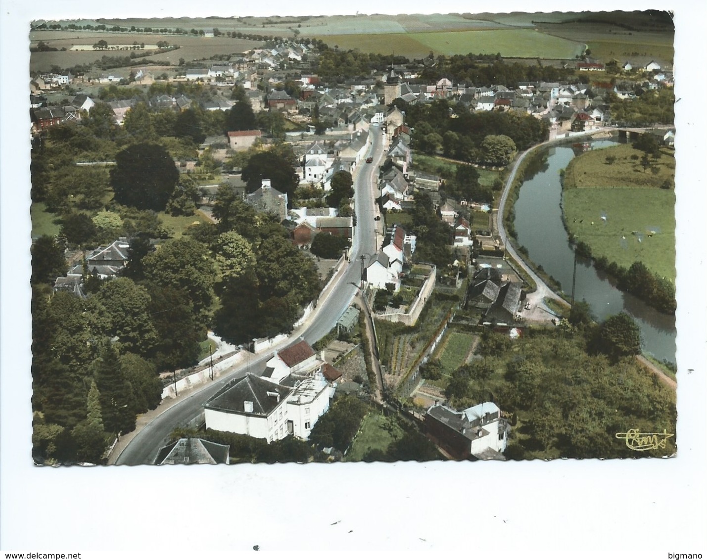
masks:
[[[34,465],[676,455],[671,13],[28,33]]]

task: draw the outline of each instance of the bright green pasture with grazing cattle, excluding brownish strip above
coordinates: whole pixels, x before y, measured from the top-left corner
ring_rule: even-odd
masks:
[[[563,193],[568,230],[576,240],[588,243],[592,255],[626,268],[641,261],[671,280],[675,279],[674,206],[675,193],[664,189],[599,187]]]

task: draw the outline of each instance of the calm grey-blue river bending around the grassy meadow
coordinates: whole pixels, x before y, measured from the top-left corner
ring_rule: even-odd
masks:
[[[592,144],[593,148],[601,148],[616,142],[600,140]],[[518,245],[526,247],[530,260],[541,264],[566,293],[571,293],[574,252],[562,222],[560,170],[567,167],[575,151],[568,145],[546,148],[542,153],[547,160],[520,187],[515,202],[515,231]],[[675,362],[675,317],[618,290],[606,274],[597,272],[584,259],[578,260],[575,281],[575,301],[582,300],[589,303],[599,321],[621,311],[628,313],[641,328],[643,352]]]

